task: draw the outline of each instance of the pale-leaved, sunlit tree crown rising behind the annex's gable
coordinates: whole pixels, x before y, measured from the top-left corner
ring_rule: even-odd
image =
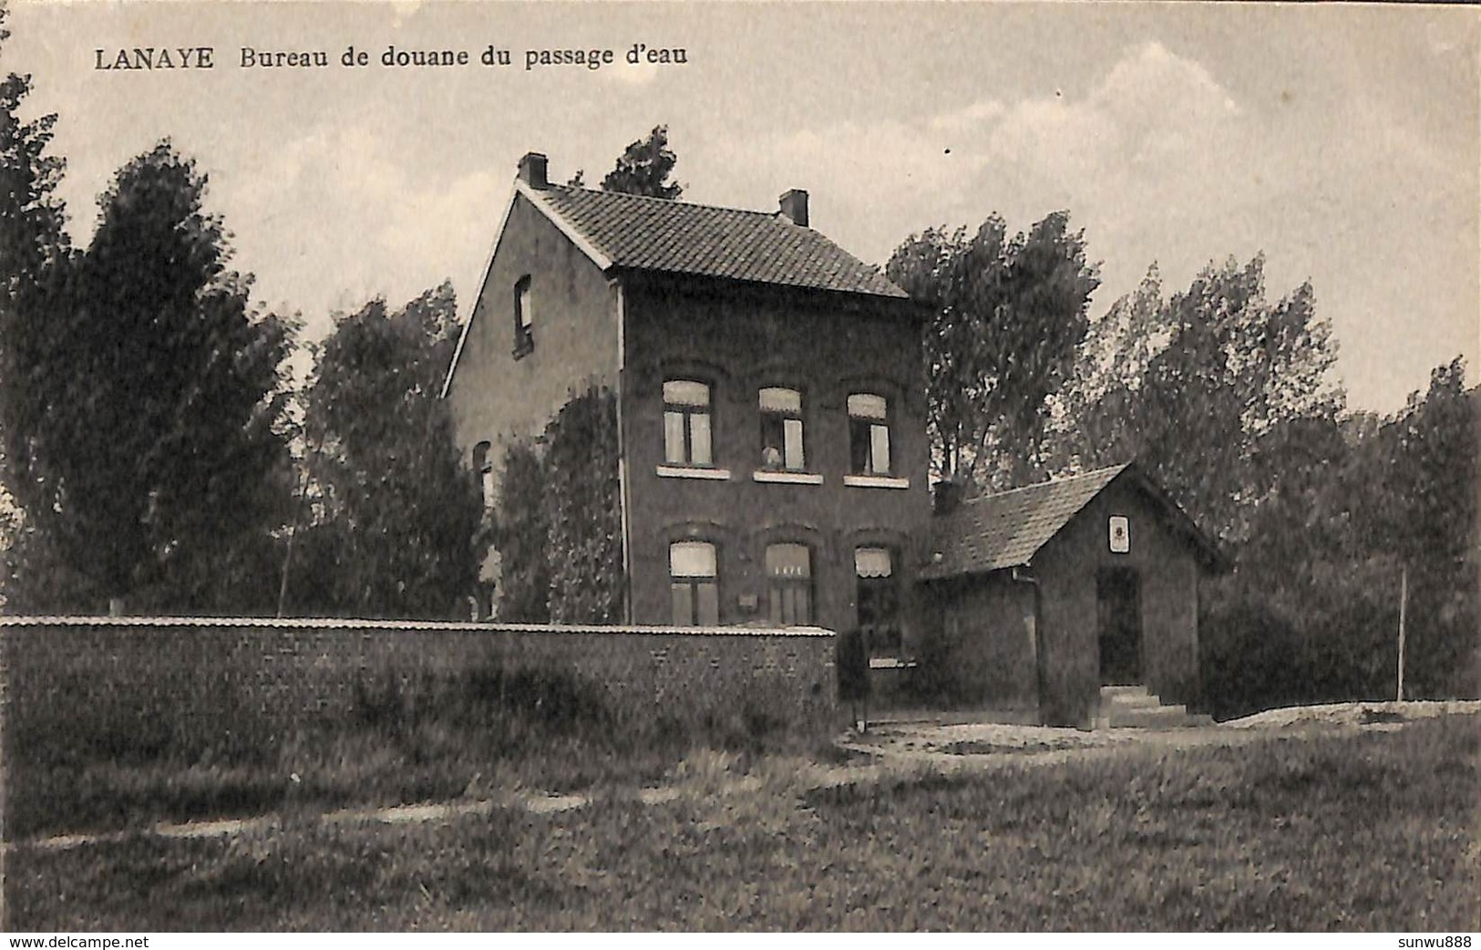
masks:
[[[1056,422],[1056,465],[1136,458],[1214,537],[1243,541],[1291,425],[1336,424],[1330,325],[1305,283],[1265,296],[1265,259],[1208,265],[1164,299],[1155,267],[1087,333]]]

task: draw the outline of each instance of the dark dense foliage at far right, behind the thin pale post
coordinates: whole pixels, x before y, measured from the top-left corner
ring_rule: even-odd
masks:
[[[1386,419],[1311,431],[1210,591],[1208,701],[1394,698],[1404,600],[1407,698],[1477,695],[1481,628],[1477,391],[1460,360]]]

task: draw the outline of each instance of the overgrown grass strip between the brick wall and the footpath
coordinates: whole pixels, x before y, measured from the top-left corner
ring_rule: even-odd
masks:
[[[624,723],[560,670],[474,668],[394,685],[312,731],[218,745],[44,723],[7,748],[9,840],[144,828],[158,821],[444,802],[512,787],[586,791],[661,778],[695,748],[749,754],[826,740],[766,723]]]

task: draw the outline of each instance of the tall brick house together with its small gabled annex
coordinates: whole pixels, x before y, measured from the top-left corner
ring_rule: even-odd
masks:
[[[1123,680],[1195,700],[1217,554],[1134,467],[937,486],[933,516],[923,319],[804,191],[711,207],[555,185],[527,154],[443,394],[490,501],[501,446],[615,394],[625,622],[863,627],[877,682],[920,658],[1046,722]]]

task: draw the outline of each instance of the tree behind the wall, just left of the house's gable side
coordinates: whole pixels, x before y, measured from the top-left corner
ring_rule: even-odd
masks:
[[[298,612],[440,620],[474,590],[481,502],[453,440],[441,376],[458,342],[452,285],[395,311],[339,317],[308,388],[318,499],[289,603]],[[326,581],[327,578],[327,581]]]

